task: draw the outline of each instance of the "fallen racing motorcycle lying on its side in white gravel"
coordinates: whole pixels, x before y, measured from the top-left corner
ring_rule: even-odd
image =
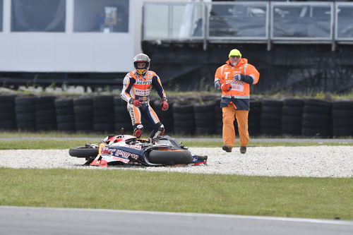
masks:
[[[160,167],[179,164],[207,164],[207,156],[193,155],[184,145],[169,135],[155,143],[133,135],[108,135],[100,143],[71,148],[72,157],[84,157],[86,166],[109,167],[139,164]]]

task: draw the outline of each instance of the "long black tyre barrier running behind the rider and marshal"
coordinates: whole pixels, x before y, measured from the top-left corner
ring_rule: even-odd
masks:
[[[166,133],[222,135],[220,98],[185,100],[169,98],[162,112],[160,98],[150,101]],[[113,107],[114,108],[113,108]],[[234,122],[237,129],[237,123]],[[145,125],[145,131],[150,131]],[[0,130],[84,131],[132,133],[126,102],[119,95],[54,97],[0,95]],[[304,135],[332,138],[353,136],[353,100],[319,99],[251,100],[249,133],[256,135]]]

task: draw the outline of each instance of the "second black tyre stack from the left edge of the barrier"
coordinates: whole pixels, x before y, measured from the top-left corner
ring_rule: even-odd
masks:
[[[35,131],[35,104],[37,97],[15,98],[16,124],[19,131]]]

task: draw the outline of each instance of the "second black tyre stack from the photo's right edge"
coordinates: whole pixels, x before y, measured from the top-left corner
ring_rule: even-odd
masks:
[[[301,134],[328,138],[331,135],[331,102],[304,100]]]

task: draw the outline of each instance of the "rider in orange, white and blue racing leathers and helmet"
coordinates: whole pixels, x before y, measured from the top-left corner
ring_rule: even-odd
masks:
[[[127,102],[128,113],[131,116],[133,135],[140,137],[143,133],[141,116],[153,128],[150,135],[152,142],[155,142],[164,133],[164,126],[160,123],[155,111],[150,107],[150,90],[152,86],[157,90],[162,99],[162,111],[169,108],[167,96],[164,93],[162,83],[157,74],[149,71],[150,58],[146,54],[137,54],[133,57],[133,66],[136,69],[127,73],[123,81],[121,98]]]

